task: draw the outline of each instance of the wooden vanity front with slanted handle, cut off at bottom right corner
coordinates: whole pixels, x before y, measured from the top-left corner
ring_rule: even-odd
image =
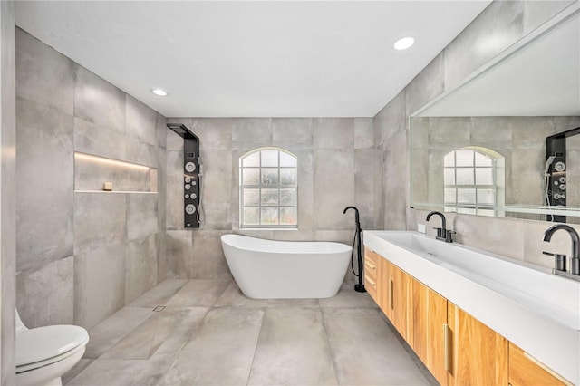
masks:
[[[527,385],[565,385],[571,384],[546,366],[535,362],[526,352],[509,343],[509,384],[512,386]]]

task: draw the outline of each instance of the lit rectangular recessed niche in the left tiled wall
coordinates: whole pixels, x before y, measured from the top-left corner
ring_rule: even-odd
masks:
[[[74,191],[157,193],[157,169],[119,159],[108,159],[81,152],[74,153]]]

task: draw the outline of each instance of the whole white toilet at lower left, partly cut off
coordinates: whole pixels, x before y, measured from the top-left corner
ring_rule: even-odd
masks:
[[[89,333],[76,325],[28,329],[16,310],[16,384],[62,386],[61,376],[79,362]]]

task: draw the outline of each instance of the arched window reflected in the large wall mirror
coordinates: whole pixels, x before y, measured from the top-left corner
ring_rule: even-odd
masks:
[[[469,146],[443,159],[445,211],[503,217],[505,159],[497,151]]]

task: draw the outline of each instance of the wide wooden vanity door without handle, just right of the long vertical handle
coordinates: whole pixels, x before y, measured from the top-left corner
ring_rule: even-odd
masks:
[[[450,302],[447,312],[453,336],[448,384],[507,385],[507,339]]]

